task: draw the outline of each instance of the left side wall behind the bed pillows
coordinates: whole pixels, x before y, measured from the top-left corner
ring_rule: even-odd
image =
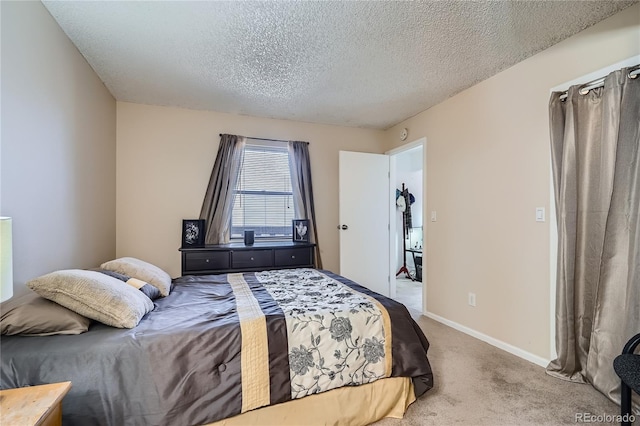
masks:
[[[115,255],[116,103],[40,2],[2,2],[1,214],[15,293]]]

